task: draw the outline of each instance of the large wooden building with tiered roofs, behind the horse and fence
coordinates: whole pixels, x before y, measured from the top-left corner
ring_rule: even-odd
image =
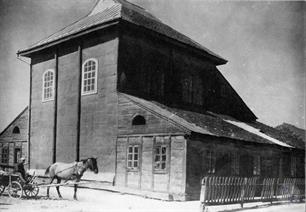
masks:
[[[31,58],[32,169],[98,156],[96,180],[178,200],[198,199],[205,175],[304,174],[304,143],[256,121],[225,59],[125,0],[18,55]]]

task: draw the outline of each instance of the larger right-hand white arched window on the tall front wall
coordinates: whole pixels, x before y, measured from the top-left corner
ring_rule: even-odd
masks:
[[[83,63],[82,67],[82,95],[97,92],[97,70],[98,61],[96,59],[88,59]]]

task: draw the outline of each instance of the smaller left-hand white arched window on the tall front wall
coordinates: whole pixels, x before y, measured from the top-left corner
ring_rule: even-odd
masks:
[[[43,74],[42,101],[54,100],[54,70],[49,69]]]

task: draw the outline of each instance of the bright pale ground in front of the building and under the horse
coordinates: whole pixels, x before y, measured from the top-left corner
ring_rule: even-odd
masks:
[[[62,187],[61,193],[64,199],[59,199],[55,188],[50,189],[50,199],[46,199],[46,190],[39,192],[37,199],[11,199],[7,195],[0,197],[0,211],[9,212],[199,212],[200,202],[167,202],[154,199],[146,199],[139,196],[119,194],[110,191],[79,189],[78,201],[73,200],[73,189]],[[244,209],[239,205],[209,206],[206,212],[232,212],[232,211],[250,211],[250,212],[304,212],[305,203],[252,203],[246,204]]]

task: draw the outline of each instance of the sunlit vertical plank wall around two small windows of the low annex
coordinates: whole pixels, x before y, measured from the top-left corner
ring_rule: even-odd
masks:
[[[127,169],[128,144],[139,144],[140,168]],[[154,171],[154,146],[168,146],[167,169]],[[115,185],[143,191],[168,193],[170,199],[185,200],[185,148],[184,136],[119,136],[117,139],[117,170]]]

